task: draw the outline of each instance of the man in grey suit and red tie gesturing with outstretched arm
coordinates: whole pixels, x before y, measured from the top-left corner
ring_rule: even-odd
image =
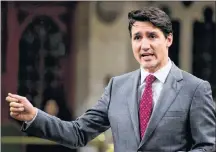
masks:
[[[128,14],[140,69],[113,77],[96,105],[66,122],[9,94],[11,116],[29,135],[74,148],[111,127],[115,152],[213,151],[216,111],[207,81],[180,70],[168,57],[170,18],[149,7]]]

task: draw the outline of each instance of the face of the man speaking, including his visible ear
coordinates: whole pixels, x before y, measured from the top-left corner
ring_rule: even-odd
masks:
[[[155,72],[168,62],[168,47],[172,34],[167,38],[150,22],[136,21],[131,29],[131,42],[135,59],[148,72]]]

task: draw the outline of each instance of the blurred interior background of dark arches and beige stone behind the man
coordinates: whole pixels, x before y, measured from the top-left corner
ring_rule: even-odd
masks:
[[[94,105],[112,76],[139,68],[127,14],[157,6],[173,22],[170,58],[211,83],[216,98],[215,2],[18,2],[1,1],[1,148],[3,152],[113,151],[108,130],[71,150],[27,137],[9,116],[8,92],[63,120]],[[70,135],[69,135],[70,136]]]

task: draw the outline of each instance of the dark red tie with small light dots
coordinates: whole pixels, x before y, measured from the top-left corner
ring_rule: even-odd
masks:
[[[146,77],[145,90],[142,94],[142,98],[139,105],[139,123],[140,123],[141,139],[145,133],[152,112],[152,103],[153,103],[152,83],[154,82],[154,80],[155,80],[155,76],[151,74],[149,74]]]

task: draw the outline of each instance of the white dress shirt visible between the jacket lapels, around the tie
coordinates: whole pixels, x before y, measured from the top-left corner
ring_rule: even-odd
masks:
[[[164,86],[164,83],[166,81],[166,78],[170,72],[170,69],[172,67],[172,62],[169,59],[168,64],[166,64],[164,67],[162,67],[161,69],[159,69],[158,71],[156,71],[155,73],[149,73],[147,71],[145,71],[142,67],[141,67],[141,85],[138,88],[138,95],[139,98],[141,100],[143,91],[145,89],[145,78],[149,75],[152,74],[156,77],[156,80],[152,83],[152,93],[153,93],[153,110],[155,108],[155,105],[157,104],[158,98],[160,96],[161,90]],[[139,100],[139,102],[140,102]]]

